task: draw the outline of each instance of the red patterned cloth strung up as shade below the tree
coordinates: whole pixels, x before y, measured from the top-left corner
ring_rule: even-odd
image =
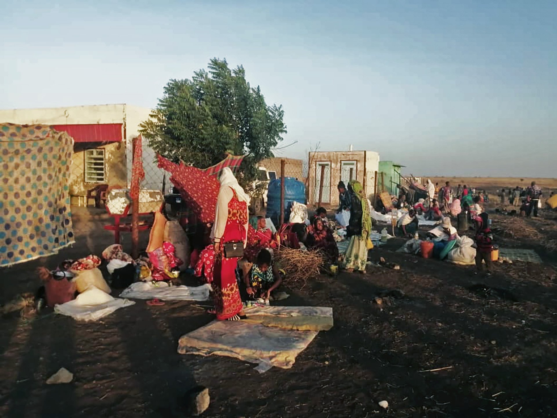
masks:
[[[180,194],[201,222],[214,221],[214,209],[221,186],[216,177],[183,162],[175,164],[160,155],[159,168],[172,174],[170,181],[180,190]]]

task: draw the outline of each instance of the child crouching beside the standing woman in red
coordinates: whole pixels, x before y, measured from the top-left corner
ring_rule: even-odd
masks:
[[[278,268],[272,264],[271,253],[262,249],[250,270],[243,277],[245,290],[241,289],[244,300],[268,300],[271,292],[282,283],[282,276]],[[242,286],[243,287],[243,286]]]

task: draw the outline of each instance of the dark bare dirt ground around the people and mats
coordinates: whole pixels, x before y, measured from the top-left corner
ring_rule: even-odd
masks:
[[[214,418],[555,417],[557,252],[548,243],[557,239],[557,214],[493,218],[494,227],[504,227],[500,246],[536,249],[544,263],[497,263],[487,277],[473,267],[395,253],[404,240],[392,239],[370,260],[383,256],[400,270],[372,265],[365,275],[320,276],[286,289],[291,297],[282,304],[332,306],[335,321],[287,370],[259,374],[237,359],[177,354],[181,335],[212,320],[199,302],[137,301],[96,323],[6,315],[0,416],[184,416],[180,397],[203,385],[211,395],[203,416]],[[100,253],[111,243],[101,228],[106,222],[76,212],[78,244],[0,270],[2,299],[37,286],[33,270],[41,263]],[[477,283],[505,289],[516,301],[466,289]],[[405,296],[375,304],[389,289]],[[74,381],[45,385],[60,367]],[[382,400],[388,410],[378,406]]]

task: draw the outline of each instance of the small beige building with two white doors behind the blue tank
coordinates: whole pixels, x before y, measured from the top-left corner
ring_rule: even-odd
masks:
[[[336,189],[340,180],[346,185],[350,180],[358,180],[364,187],[368,199],[375,194],[375,173],[379,171],[379,153],[374,151],[317,151],[309,153],[308,202],[319,202],[330,206],[339,204]],[[321,172],[323,170],[323,186]],[[372,200],[373,201],[373,200]]]

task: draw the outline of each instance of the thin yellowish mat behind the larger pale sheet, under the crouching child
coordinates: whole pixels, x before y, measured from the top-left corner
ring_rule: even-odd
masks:
[[[248,323],[299,331],[333,328],[333,308],[323,306],[253,306],[246,308]]]

